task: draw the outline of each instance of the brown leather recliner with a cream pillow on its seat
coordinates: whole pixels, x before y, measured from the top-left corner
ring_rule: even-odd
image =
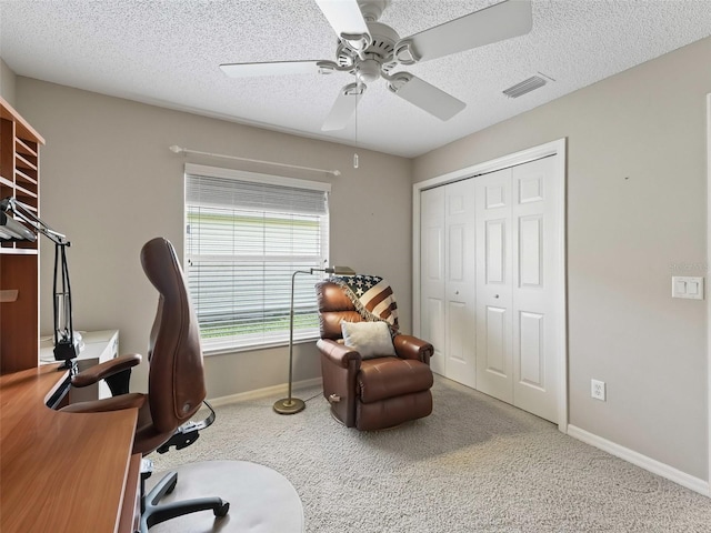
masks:
[[[411,335],[393,338],[397,356],[363,360],[343,344],[341,321],[363,319],[340,285],[316,285],[321,339],[323,396],[333,416],[348,428],[381,430],[432,412],[432,344]]]

